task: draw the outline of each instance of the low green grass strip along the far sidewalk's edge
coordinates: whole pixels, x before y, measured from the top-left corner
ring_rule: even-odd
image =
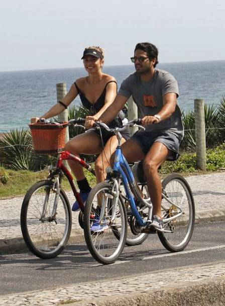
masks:
[[[195,165],[196,153],[183,152],[177,161],[165,162],[160,170],[160,175],[164,178],[172,172],[178,172],[183,176],[219,172],[221,168],[225,168],[225,144],[223,143],[213,149],[207,149],[205,172],[197,170]],[[89,184],[94,186],[96,183],[94,175],[87,170],[84,171]],[[41,172],[14,171],[0,167],[0,198],[23,196],[35,182],[46,179],[47,175],[48,170]],[[66,178],[63,179],[62,187],[64,190],[71,189]]]

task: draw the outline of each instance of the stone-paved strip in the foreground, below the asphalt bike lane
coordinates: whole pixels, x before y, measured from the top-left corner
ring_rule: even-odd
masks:
[[[224,284],[224,263],[194,265],[119,279],[1,295],[0,306],[220,306],[225,303]]]

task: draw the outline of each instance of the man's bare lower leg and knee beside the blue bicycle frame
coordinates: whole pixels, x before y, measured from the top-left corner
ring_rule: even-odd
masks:
[[[159,166],[167,159],[170,150],[161,142],[153,143],[143,163],[149,195],[153,205],[153,216],[161,218],[162,184]]]

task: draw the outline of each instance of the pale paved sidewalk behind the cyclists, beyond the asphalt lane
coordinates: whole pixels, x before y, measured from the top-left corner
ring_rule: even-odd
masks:
[[[225,220],[225,172],[186,177],[195,201],[196,223]],[[72,205],[74,196],[67,192]],[[0,252],[23,248],[24,242],[20,228],[20,210],[23,197],[0,199]],[[78,213],[72,212],[72,233],[82,239],[78,225]]]

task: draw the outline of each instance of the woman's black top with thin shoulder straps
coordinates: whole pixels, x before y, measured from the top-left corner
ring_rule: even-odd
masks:
[[[114,82],[114,83],[117,84],[116,81],[109,81],[109,82],[107,82],[106,85],[104,86],[104,89],[103,89],[101,95],[99,96],[99,98],[96,100],[96,102],[94,104],[90,103],[90,101],[85,97],[84,93],[77,86],[76,82],[74,82],[74,85],[76,86],[76,89],[77,89],[77,91],[79,93],[82,105],[86,109],[90,110],[92,115],[95,115],[96,113],[98,113],[100,111],[100,109],[103,108],[104,100],[105,100],[105,94],[106,94],[106,87],[111,82]],[[116,117],[113,121],[111,121],[108,124],[109,128],[121,127],[122,126],[122,120],[124,119],[122,117],[123,117],[123,114],[119,114],[118,117]]]

